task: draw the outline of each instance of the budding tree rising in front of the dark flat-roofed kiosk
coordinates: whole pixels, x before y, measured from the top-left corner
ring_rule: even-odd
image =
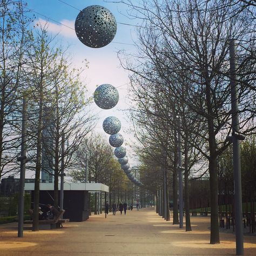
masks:
[[[83,69],[72,68],[71,59],[62,50],[53,65],[51,93],[45,108],[43,134],[43,150],[47,166],[54,175],[54,202],[58,206],[58,178],[61,171],[62,143],[65,144],[64,163],[62,167],[68,170],[75,164],[73,154],[78,150],[87,133],[94,126],[93,117],[89,115],[90,99],[86,99],[86,88],[80,82]],[[51,174],[51,172],[49,173]]]

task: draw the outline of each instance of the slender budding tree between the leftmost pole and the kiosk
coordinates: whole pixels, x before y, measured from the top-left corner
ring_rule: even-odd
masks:
[[[27,63],[26,82],[31,85],[29,100],[29,133],[32,157],[35,160],[35,194],[33,211],[33,231],[39,230],[39,182],[42,169],[42,131],[44,106],[51,93],[52,77],[56,69],[54,64],[59,55],[59,49],[53,48],[54,38],[46,31],[46,26],[39,26],[35,31],[33,44],[26,52]]]

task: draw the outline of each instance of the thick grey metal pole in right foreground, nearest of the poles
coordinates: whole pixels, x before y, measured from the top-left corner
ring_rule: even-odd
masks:
[[[235,59],[235,41],[230,40],[230,86],[232,112],[232,142],[233,142],[233,172],[234,172],[234,201],[235,201],[235,242],[237,255],[244,255],[244,237],[242,232],[242,188],[241,163],[238,119],[238,89],[236,83],[237,61]]]

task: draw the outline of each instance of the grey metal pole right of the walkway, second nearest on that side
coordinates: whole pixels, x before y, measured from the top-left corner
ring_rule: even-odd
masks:
[[[183,228],[183,177],[182,177],[182,154],[180,118],[178,117],[178,171],[179,171],[179,228]]]

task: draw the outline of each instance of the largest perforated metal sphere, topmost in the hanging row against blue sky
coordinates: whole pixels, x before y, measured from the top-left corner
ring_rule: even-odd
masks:
[[[79,12],[75,22],[78,39],[91,48],[109,44],[117,32],[117,22],[109,10],[91,5]]]

